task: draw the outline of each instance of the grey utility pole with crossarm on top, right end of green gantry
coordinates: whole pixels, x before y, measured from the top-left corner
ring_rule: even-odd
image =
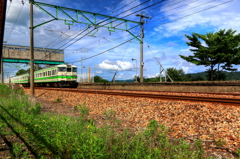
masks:
[[[149,18],[146,17],[145,14],[137,14],[136,16],[140,17],[140,27],[141,27],[141,31],[140,31],[140,82],[143,82],[143,38],[144,38],[144,18]]]

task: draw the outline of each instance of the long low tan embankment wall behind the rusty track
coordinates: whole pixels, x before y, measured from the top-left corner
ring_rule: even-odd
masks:
[[[240,81],[197,81],[156,83],[78,83],[82,89],[188,91],[188,92],[239,92]]]

